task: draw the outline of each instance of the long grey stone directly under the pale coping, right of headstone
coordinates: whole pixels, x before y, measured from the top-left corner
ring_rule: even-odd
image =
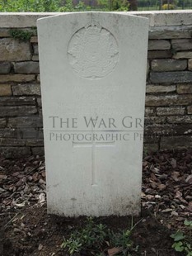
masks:
[[[191,38],[191,31],[191,26],[154,26],[150,28],[149,39]]]

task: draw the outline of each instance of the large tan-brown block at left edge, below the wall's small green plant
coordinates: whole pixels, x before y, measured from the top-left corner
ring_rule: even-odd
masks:
[[[0,39],[1,61],[30,60],[30,43],[13,38]]]

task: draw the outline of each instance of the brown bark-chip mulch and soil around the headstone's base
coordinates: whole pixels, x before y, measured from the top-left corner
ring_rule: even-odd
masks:
[[[47,215],[45,197],[43,157],[0,159],[0,255],[67,255],[60,247],[63,237],[85,218]],[[144,157],[142,214],[133,218],[138,252],[131,255],[184,255],[171,249],[170,238],[178,229],[187,231],[184,220],[192,220],[192,149]],[[132,220],[111,216],[96,221],[123,230]]]

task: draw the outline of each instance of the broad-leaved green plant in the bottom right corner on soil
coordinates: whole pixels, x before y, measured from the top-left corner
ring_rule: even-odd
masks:
[[[189,229],[189,238],[182,231],[178,230],[175,234],[171,235],[171,238],[174,239],[175,242],[172,244],[172,248],[174,248],[176,252],[185,252],[186,256],[192,256],[192,221],[185,220],[184,224]]]

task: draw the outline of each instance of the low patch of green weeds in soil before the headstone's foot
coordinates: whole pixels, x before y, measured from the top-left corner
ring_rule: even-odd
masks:
[[[120,248],[120,254],[128,255],[130,249],[133,249],[133,242],[130,239],[131,232],[123,230],[119,233],[107,229],[106,225],[96,224],[92,218],[88,218],[84,227],[80,230],[74,230],[68,239],[64,239],[61,247],[68,251],[68,254],[90,252],[90,255],[105,255],[105,247]]]

